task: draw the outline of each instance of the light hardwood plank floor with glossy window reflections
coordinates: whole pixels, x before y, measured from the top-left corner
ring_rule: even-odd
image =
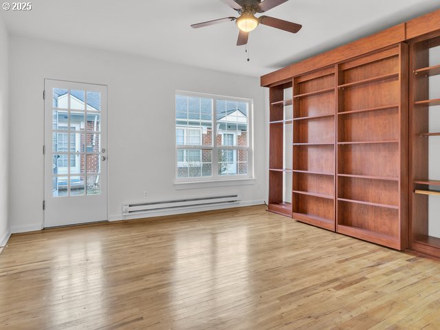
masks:
[[[262,206],[13,235],[0,329],[440,329],[440,261]]]

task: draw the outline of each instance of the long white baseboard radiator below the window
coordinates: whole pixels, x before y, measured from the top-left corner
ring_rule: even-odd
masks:
[[[197,206],[239,203],[239,201],[241,201],[240,195],[222,195],[200,198],[175,199],[172,201],[155,201],[151,203],[133,203],[122,205],[122,214],[129,215],[165,210],[179,210],[185,208],[195,208]]]

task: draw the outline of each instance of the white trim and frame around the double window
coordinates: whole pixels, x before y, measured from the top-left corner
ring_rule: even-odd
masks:
[[[250,98],[234,98],[232,96],[221,96],[216,94],[203,94],[195,93],[191,91],[175,91],[175,96],[193,96],[197,98],[212,98],[212,142],[210,146],[200,145],[200,146],[177,146],[176,136],[174,137],[175,144],[175,185],[179,184],[192,184],[192,183],[212,183],[212,182],[224,182],[224,181],[241,181],[254,179],[254,100]],[[225,100],[232,102],[247,102],[248,103],[248,146],[217,146],[217,102],[215,100]],[[176,109],[175,109],[176,111]],[[175,117],[175,116],[174,116]],[[176,118],[174,119],[174,134],[176,135]],[[235,134],[234,134],[235,135]],[[236,136],[234,136],[234,139]],[[223,139],[223,135],[222,135]],[[212,175],[209,177],[177,177],[177,150],[179,149],[201,149],[201,150],[211,150],[212,151]],[[218,173],[218,150],[219,149],[231,149],[231,150],[247,150],[248,151],[248,174],[236,174],[236,175],[219,175]]]

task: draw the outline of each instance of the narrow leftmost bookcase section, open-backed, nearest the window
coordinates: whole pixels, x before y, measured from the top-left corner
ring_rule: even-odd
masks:
[[[292,217],[292,83],[270,89],[269,210]]]

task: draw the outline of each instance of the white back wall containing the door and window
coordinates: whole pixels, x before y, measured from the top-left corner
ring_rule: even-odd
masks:
[[[122,203],[129,202],[222,192],[237,192],[245,203],[266,198],[265,94],[259,78],[19,36],[10,36],[10,77],[12,232],[43,225],[45,78],[109,86],[109,219],[122,219]],[[254,100],[255,181],[189,190],[174,185],[177,89]]]

